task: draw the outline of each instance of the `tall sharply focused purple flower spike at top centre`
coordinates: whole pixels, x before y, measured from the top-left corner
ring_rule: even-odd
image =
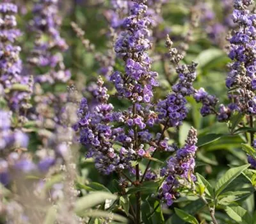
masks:
[[[150,49],[151,20],[145,14],[147,6],[134,2],[131,12],[122,23],[121,31],[115,44],[115,52],[125,61],[125,74],[114,72],[110,80],[115,84],[118,96],[132,102],[149,103],[152,99],[152,88],[157,86],[157,73],[150,71],[152,61],[147,51]]]

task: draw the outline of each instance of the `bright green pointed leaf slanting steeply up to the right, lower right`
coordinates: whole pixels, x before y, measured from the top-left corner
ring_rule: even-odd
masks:
[[[235,168],[229,169],[217,182],[215,186],[216,196],[220,195],[220,193],[227,188],[228,184],[230,184],[234,179],[236,179],[244,170],[246,170],[250,164],[246,164],[243,166],[238,166]]]

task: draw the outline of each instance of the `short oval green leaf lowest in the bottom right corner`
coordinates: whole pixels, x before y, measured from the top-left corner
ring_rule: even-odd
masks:
[[[230,206],[226,207],[225,211],[227,212],[228,216],[235,220],[237,223],[243,224],[253,224],[252,216],[240,206]]]

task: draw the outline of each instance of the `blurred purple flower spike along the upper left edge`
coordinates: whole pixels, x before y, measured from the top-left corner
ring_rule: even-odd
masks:
[[[9,108],[19,114],[24,114],[24,109],[30,107],[32,80],[22,74],[22,61],[19,57],[21,49],[15,45],[21,33],[19,29],[16,29],[15,13],[17,13],[15,4],[7,0],[0,3],[0,81],[6,90],[4,99]]]

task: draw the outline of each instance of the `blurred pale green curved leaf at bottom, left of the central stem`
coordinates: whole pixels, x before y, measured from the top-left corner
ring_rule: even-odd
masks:
[[[76,201],[75,211],[77,214],[83,214],[86,209],[90,209],[95,205],[105,202],[107,199],[116,200],[117,196],[105,191],[97,191],[90,193]]]

